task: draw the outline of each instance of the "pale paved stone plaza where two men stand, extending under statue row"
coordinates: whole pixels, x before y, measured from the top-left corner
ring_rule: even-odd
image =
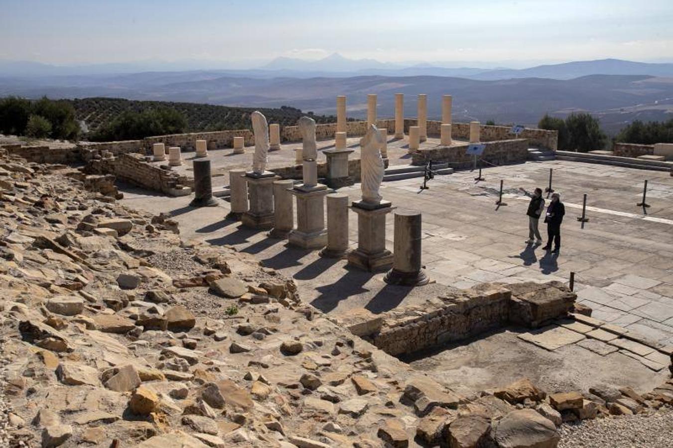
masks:
[[[390,153],[402,157],[403,145],[404,141],[391,141]],[[217,160],[216,151],[211,152]],[[272,153],[276,154],[292,155],[289,151]],[[544,188],[550,168],[555,170],[553,188],[561,193],[567,211],[559,256],[524,244],[527,198],[518,191],[519,187]],[[484,170],[484,176],[483,182],[475,182],[469,171],[438,176],[423,192],[419,190],[422,179],[382,186],[384,198],[394,206],[423,213],[423,264],[434,281],[457,288],[489,281],[567,282],[573,271],[579,299],[594,309],[594,317],[673,343],[673,185],[668,173],[550,161],[491,167]],[[501,178],[506,205],[497,207]],[[636,207],[645,179],[649,180],[647,202],[651,204],[647,215]],[[340,191],[353,199],[359,197],[358,184]],[[581,229],[576,218],[585,192],[590,221]],[[228,202],[221,201],[217,208],[193,209],[188,207],[189,200],[127,190],[125,202],[155,213],[172,213],[180,221],[183,238],[198,237],[255,254],[265,265],[292,275],[302,298],[326,312],[353,307],[380,312],[423,300],[431,290],[441,289],[437,285],[419,289],[386,285],[383,274],[345,268],[345,261],[289,248],[284,240],[224,221]],[[350,215],[354,247],[357,220],[355,213]],[[387,222],[386,239],[392,249],[392,219]],[[541,231],[544,235],[543,224]]]

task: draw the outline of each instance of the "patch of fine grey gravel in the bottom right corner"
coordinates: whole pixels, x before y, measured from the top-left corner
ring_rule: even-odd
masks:
[[[658,412],[583,420],[559,428],[559,448],[671,448],[673,409]]]

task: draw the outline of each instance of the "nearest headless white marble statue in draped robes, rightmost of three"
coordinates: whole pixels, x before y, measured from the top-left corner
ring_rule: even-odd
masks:
[[[385,168],[381,158],[381,145],[381,133],[374,124],[370,124],[365,137],[360,140],[362,200],[369,204],[379,204],[382,199],[379,188]]]

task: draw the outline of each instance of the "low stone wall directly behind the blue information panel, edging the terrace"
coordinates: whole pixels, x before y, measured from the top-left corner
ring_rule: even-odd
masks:
[[[485,143],[483,155],[484,164],[507,165],[509,163],[524,163],[528,157],[528,140],[503,140]],[[472,167],[474,156],[466,154],[468,145],[440,146],[421,148],[411,156],[412,165],[425,165],[428,160],[447,161],[449,167],[460,169]]]

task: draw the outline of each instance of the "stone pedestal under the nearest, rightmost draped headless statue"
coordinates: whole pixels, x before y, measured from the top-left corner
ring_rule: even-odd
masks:
[[[386,250],[386,215],[395,207],[390,202],[380,204],[353,202],[351,210],[357,213],[357,249],[348,254],[348,264],[376,272],[392,265],[392,254]]]

